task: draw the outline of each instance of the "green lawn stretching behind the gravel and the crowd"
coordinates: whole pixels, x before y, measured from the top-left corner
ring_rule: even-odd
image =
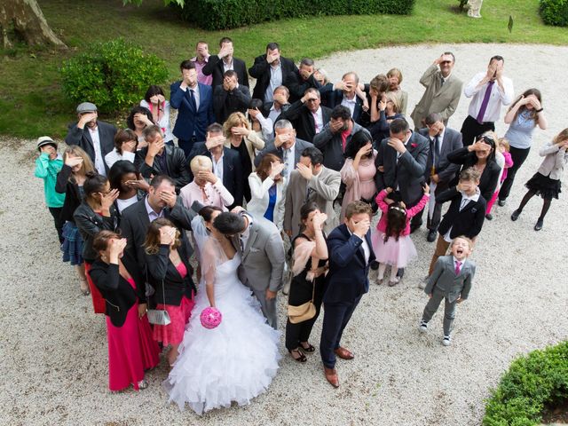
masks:
[[[417,0],[412,16],[340,16],[282,20],[224,32],[191,28],[163,7],[162,0],[145,0],[143,6],[122,7],[121,0],[40,0],[51,28],[69,51],[4,51],[0,62],[0,134],[36,138],[47,134],[64,137],[73,105],[62,97],[58,68],[84,46],[118,36],[139,44],[165,59],[170,77],[177,66],[193,56],[198,40],[217,52],[221,36],[231,36],[236,56],[252,64],[270,41],[280,43],[284,56],[320,58],[334,51],[349,51],[409,43],[568,43],[568,28],[542,24],[538,0],[485,2],[483,19],[458,13],[457,0]],[[509,34],[509,14],[515,25]],[[393,66],[396,64],[393,64]],[[114,122],[118,117],[108,118]]]

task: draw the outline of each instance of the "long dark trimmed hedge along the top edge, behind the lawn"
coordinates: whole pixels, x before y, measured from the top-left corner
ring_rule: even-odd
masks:
[[[177,7],[177,6],[174,6]],[[209,30],[326,15],[409,15],[414,0],[186,0],[181,17]]]

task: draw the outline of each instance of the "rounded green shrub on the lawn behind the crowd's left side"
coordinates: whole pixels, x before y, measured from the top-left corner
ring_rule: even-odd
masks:
[[[150,84],[168,78],[165,62],[117,39],[95,43],[60,68],[63,91],[75,104],[89,101],[99,112],[122,112],[138,104]]]

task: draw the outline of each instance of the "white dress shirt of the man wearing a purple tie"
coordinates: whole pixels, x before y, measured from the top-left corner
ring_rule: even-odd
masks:
[[[487,91],[489,87],[489,83],[485,83],[480,88],[477,88],[477,84],[484,79],[485,75],[487,75],[486,72],[476,74],[463,89],[463,94],[467,98],[473,97],[471,102],[469,102],[468,114],[475,119],[477,119],[477,114],[479,114],[481,104],[485,98],[485,91]],[[501,78],[503,81],[503,90],[501,90],[497,81],[493,83],[489,103],[487,104],[487,109],[485,109],[484,122],[498,122],[501,116],[501,106],[509,105],[515,96],[513,81],[508,77]]]

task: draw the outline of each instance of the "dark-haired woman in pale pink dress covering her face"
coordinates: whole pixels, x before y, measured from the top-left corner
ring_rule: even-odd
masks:
[[[345,146],[345,162],[340,170],[341,179],[345,184],[345,194],[341,205],[340,220],[343,222],[345,209],[351,201],[365,201],[377,210],[375,204],[375,158],[376,151],[373,149],[373,139],[370,135],[359,130],[351,141]]]

